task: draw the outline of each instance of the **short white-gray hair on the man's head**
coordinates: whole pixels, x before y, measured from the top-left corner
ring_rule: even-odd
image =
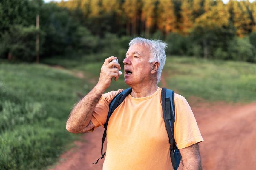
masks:
[[[135,37],[129,43],[129,47],[134,44],[146,45],[149,48],[150,58],[149,63],[159,62],[159,67],[157,69],[157,83],[161,79],[161,73],[165,64],[166,54],[165,49],[167,48],[167,43],[161,40],[148,40],[145,38]]]

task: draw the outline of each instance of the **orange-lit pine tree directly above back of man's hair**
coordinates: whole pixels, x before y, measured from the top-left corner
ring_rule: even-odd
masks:
[[[158,4],[158,28],[168,34],[177,30],[177,19],[174,13],[174,4],[170,0],[159,0]]]

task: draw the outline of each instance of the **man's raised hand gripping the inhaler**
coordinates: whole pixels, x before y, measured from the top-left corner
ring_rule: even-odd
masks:
[[[101,89],[107,89],[110,86],[111,80],[115,77],[115,81],[119,78],[119,71],[121,69],[120,64],[116,62],[110,62],[113,59],[117,59],[116,57],[109,57],[105,59],[104,64],[101,67],[99,82],[96,86],[99,86]],[[117,68],[112,68],[113,66]]]

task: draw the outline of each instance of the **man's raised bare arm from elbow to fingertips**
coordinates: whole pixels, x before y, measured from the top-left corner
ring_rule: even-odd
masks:
[[[85,133],[91,130],[94,125],[91,122],[92,113],[104,91],[110,86],[112,77],[119,78],[120,64],[110,62],[116,57],[109,57],[101,67],[99,82],[97,85],[72,109],[67,120],[66,128],[71,133]],[[116,66],[117,68],[112,68]]]

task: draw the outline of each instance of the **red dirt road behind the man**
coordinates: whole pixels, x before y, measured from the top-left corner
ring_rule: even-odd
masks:
[[[256,103],[191,103],[204,141],[200,143],[203,169],[256,169]],[[52,170],[100,170],[103,128],[82,136],[76,148],[64,153]],[[106,149],[106,142],[104,148]],[[181,169],[181,167],[179,168]]]

